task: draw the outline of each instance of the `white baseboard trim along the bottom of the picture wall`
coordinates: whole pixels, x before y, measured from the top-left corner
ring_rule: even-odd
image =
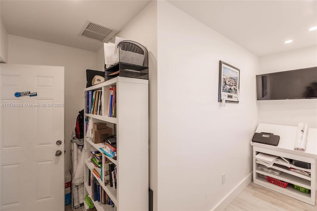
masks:
[[[252,182],[253,172],[244,178],[228,195],[226,195],[212,211],[223,211]]]

